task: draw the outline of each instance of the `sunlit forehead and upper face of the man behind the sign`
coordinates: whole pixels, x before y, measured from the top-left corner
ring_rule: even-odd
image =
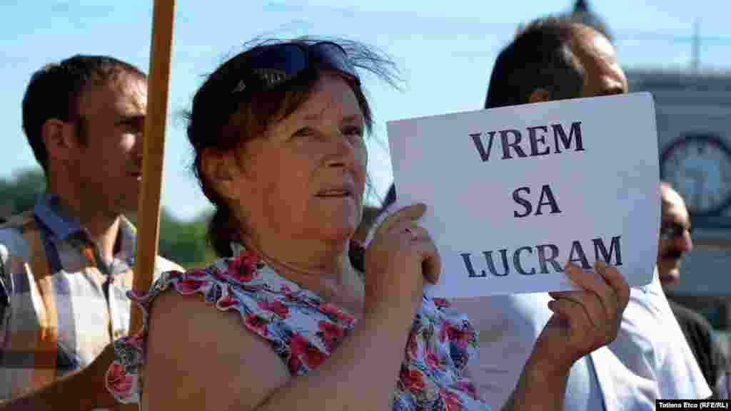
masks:
[[[617,64],[614,46],[592,28],[577,29],[572,51],[584,71],[580,97],[610,96],[627,92],[627,78]]]

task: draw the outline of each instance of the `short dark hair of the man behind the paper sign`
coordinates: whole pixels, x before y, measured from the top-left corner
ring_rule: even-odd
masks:
[[[548,17],[518,31],[495,61],[485,108],[526,104],[537,88],[554,100],[577,97],[583,68],[569,45],[577,27],[568,18]]]

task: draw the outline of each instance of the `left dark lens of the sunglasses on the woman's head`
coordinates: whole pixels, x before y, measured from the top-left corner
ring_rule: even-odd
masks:
[[[251,71],[265,87],[273,87],[289,80],[306,67],[305,50],[297,45],[272,47],[251,61]]]

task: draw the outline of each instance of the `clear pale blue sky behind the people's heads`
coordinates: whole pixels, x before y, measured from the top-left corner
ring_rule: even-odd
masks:
[[[188,169],[192,157],[179,113],[189,107],[202,75],[254,37],[345,37],[378,47],[398,64],[403,91],[366,79],[377,123],[369,171],[382,193],[392,178],[385,122],[479,109],[493,61],[518,24],[567,11],[572,2],[178,0],[162,204],[179,218],[208,207]],[[686,68],[693,21],[699,19],[701,66],[731,70],[731,1],[591,4],[615,34],[625,69]],[[147,72],[152,1],[4,0],[0,15],[0,111],[5,113],[0,177],[10,177],[36,166],[20,126],[20,101],[31,73],[75,53],[113,55]]]

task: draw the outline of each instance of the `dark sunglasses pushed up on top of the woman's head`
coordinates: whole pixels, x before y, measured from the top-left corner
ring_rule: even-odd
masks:
[[[355,67],[340,45],[333,42],[317,42],[309,46],[288,43],[265,47],[261,53],[249,58],[250,70],[232,93],[251,88],[267,90],[281,85],[307,69],[312,60],[358,78]]]

